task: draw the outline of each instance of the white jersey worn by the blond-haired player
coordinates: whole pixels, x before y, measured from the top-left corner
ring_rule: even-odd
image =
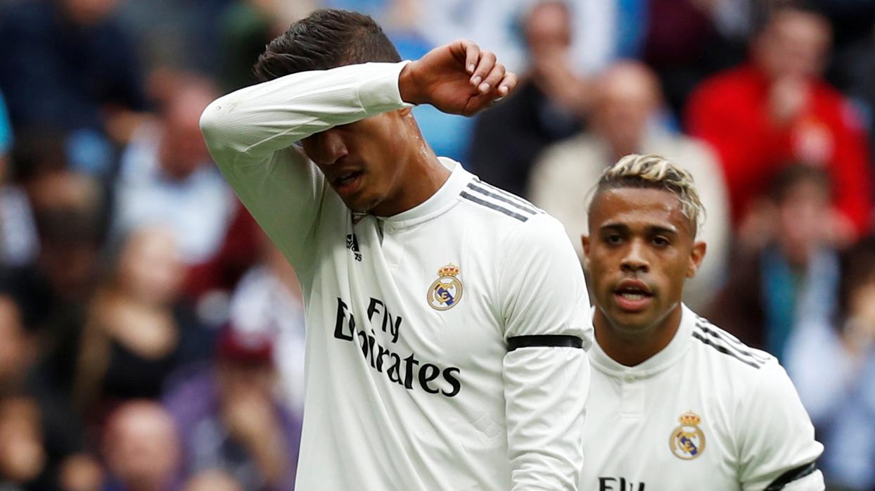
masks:
[[[626,367],[591,351],[580,489],[823,491],[823,445],[793,382],[683,306],[668,347]]]

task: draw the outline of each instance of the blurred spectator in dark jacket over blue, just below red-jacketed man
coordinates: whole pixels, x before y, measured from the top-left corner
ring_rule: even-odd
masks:
[[[783,360],[788,339],[803,319],[828,323],[835,313],[839,263],[825,234],[830,224],[826,172],[785,167],[771,195],[760,205],[763,211],[753,212],[763,217],[762,230],[771,231],[765,245],[733,264],[707,317]]]

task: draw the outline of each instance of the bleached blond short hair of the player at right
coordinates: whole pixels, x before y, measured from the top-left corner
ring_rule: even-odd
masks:
[[[681,213],[690,220],[693,236],[702,227],[705,208],[693,183],[693,176],[679,165],[655,153],[630,154],[602,172],[595,195],[625,187],[662,189],[681,202]]]

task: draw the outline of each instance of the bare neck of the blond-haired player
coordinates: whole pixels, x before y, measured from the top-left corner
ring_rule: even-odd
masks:
[[[597,306],[592,325],[602,351],[613,361],[634,367],[669,346],[681,326],[681,313],[681,304],[677,304],[652,326],[628,328],[612,322]]]

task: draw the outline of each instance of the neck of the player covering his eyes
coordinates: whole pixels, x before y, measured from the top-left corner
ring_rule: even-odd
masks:
[[[395,193],[371,209],[377,216],[392,216],[416,207],[428,200],[450,179],[450,170],[437,159],[416,131],[417,144],[410,147]]]

